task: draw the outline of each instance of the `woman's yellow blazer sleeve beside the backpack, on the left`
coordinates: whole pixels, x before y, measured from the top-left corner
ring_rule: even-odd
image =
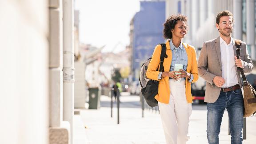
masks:
[[[146,72],[146,76],[148,77],[148,79],[151,80],[158,80],[158,75],[159,75],[159,71],[156,71],[156,69],[159,67],[160,64],[160,52],[161,52],[161,45],[157,45],[153,55],[152,55],[152,59],[148,64],[148,70]]]

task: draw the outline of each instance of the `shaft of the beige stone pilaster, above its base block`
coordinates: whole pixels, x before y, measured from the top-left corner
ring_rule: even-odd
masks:
[[[59,127],[63,120],[63,21],[62,0],[49,4],[49,74],[50,127]]]

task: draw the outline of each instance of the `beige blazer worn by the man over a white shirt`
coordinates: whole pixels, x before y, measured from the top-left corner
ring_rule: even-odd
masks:
[[[236,46],[233,43],[234,55],[236,56]],[[240,59],[244,61],[244,73],[252,72],[253,64],[247,51],[245,42],[241,43]],[[198,74],[206,80],[206,90],[204,101],[207,103],[214,103],[219,95],[220,88],[213,82],[215,76],[222,76],[221,74],[221,61],[220,55],[220,36],[216,39],[204,42],[200,56],[198,59]],[[241,72],[236,69],[238,82],[242,88]]]

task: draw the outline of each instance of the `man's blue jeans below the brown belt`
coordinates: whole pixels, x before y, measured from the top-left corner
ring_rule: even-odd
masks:
[[[220,124],[225,108],[228,110],[231,144],[242,144],[244,99],[241,89],[220,92],[215,103],[207,103],[207,139],[219,144]]]

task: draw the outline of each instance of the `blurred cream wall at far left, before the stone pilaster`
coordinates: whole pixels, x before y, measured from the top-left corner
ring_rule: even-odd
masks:
[[[0,143],[48,144],[48,0],[0,0]]]

